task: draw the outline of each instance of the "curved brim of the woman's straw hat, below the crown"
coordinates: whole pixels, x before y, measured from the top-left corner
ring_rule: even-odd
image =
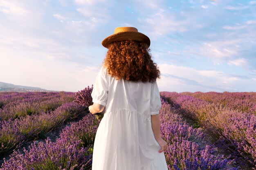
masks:
[[[108,49],[110,44],[115,41],[122,41],[122,40],[133,40],[133,41],[140,41],[145,42],[150,46],[150,39],[148,36],[144,35],[143,33],[135,32],[135,31],[126,31],[121,33],[116,33],[108,36],[105,38],[101,44]]]

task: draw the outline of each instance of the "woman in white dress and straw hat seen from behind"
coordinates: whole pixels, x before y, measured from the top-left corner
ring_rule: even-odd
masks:
[[[150,39],[134,27],[117,27],[92,91],[92,114],[106,112],[94,141],[92,170],[168,170],[160,134],[161,100]]]

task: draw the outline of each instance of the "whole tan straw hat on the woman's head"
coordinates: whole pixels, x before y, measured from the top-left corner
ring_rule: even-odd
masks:
[[[101,44],[108,49],[109,45],[115,41],[121,40],[135,40],[146,42],[148,47],[150,46],[150,39],[143,33],[139,33],[137,28],[134,27],[117,27],[114,34],[105,38]]]

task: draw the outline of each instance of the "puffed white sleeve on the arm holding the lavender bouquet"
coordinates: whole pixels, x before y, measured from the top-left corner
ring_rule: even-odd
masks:
[[[92,102],[106,106],[108,100],[108,72],[101,67],[92,89]]]

